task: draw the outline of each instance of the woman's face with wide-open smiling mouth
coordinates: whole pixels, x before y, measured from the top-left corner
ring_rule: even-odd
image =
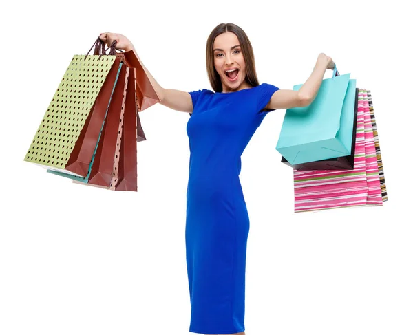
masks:
[[[218,35],[213,42],[213,63],[221,77],[222,92],[238,91],[250,87],[245,82],[245,61],[240,41],[233,32]],[[235,71],[226,72],[235,69]]]

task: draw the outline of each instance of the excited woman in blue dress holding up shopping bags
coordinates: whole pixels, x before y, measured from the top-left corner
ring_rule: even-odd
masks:
[[[104,33],[107,45],[134,50],[121,34]],[[136,52],[136,51],[135,51]],[[190,332],[244,335],[248,211],[240,184],[241,155],[268,111],[304,107],[317,95],[332,59],[319,54],[299,91],[259,84],[253,48],[237,25],[222,23],[207,40],[213,91],[164,89],[144,69],[160,104],[189,113],[187,272]]]

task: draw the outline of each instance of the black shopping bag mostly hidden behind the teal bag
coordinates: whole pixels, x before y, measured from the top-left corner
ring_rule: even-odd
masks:
[[[359,89],[356,88],[356,96],[359,94]],[[281,162],[293,167],[296,170],[352,170],[354,169],[354,150],[356,148],[356,130],[357,130],[357,99],[354,99],[354,119],[352,129],[352,144],[351,153],[348,156],[329,158],[327,160],[317,160],[315,162],[307,162],[301,164],[290,164],[284,156]]]

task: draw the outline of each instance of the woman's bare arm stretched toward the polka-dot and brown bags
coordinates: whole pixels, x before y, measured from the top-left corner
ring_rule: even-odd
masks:
[[[147,74],[149,81],[151,82],[153,88],[156,91],[160,98],[160,104],[176,111],[185,111],[187,113],[191,113],[193,110],[192,99],[191,95],[186,91],[179,91],[178,89],[164,89],[162,86],[158,84],[158,82],[153,78],[151,73],[142,63],[142,60],[138,56],[138,52],[136,52],[134,45],[122,34],[114,34],[111,32],[105,32],[100,34],[99,38],[105,42],[108,46],[112,44],[114,40],[116,40],[116,49],[119,50],[134,50],[136,57],[139,59],[140,63],[142,64],[145,73]]]

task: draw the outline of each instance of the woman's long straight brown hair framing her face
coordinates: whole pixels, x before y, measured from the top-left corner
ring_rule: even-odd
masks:
[[[220,23],[212,30],[207,40],[207,72],[212,89],[215,92],[222,92],[221,78],[213,65],[213,42],[218,35],[224,32],[233,32],[237,35],[238,41],[240,41],[241,52],[245,61],[246,83],[252,87],[260,85],[257,78],[257,72],[255,71],[253,47],[248,36],[246,36],[244,30],[233,23]]]

